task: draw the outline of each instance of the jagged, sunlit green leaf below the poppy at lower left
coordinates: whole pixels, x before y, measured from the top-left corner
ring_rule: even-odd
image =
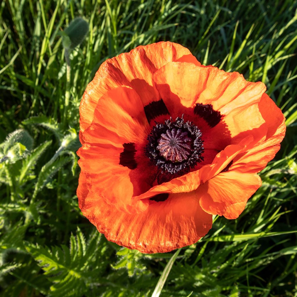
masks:
[[[48,296],[83,296],[93,286],[92,275],[100,279],[106,243],[100,243],[100,234],[93,232],[86,241],[78,229],[76,236],[70,236],[70,248],[65,245],[51,250],[34,244],[26,244],[26,250],[44,270],[44,275],[53,283]],[[96,257],[94,256],[96,255]]]

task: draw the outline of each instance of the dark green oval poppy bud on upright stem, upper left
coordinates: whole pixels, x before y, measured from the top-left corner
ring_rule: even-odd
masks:
[[[61,34],[64,48],[76,48],[84,40],[88,31],[89,24],[83,18],[75,18]]]

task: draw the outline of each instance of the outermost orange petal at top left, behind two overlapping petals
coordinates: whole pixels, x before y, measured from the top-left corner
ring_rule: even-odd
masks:
[[[129,53],[122,53],[102,63],[83,94],[80,104],[80,129],[84,131],[91,124],[99,98],[118,86],[125,85],[135,89],[144,106],[159,100],[159,93],[153,83],[154,72],[183,56],[186,56],[184,61],[193,63],[196,60],[187,48],[179,44],[158,42],[139,46]],[[198,63],[197,61],[196,64]]]

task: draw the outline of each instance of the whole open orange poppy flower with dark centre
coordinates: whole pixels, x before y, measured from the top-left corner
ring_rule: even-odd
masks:
[[[171,42],[105,61],[80,104],[84,216],[144,253],[195,243],[213,214],[237,218],[285,135],[265,90]]]

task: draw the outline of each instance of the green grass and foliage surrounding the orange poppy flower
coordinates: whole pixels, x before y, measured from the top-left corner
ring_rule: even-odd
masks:
[[[2,1],[0,143],[25,129],[33,149],[14,147],[20,156],[0,165],[1,296],[297,296],[296,10],[286,0]],[[89,33],[70,55],[67,86],[58,33],[77,16]],[[78,107],[103,61],[161,40],[263,81],[287,133],[238,219],[215,217],[178,255],[143,255],[80,214]]]

